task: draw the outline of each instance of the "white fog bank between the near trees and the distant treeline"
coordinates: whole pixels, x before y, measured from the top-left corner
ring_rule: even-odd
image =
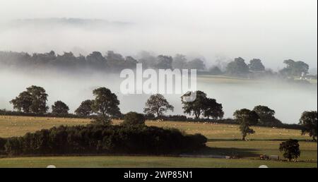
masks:
[[[122,95],[119,85],[123,79],[119,74],[106,75],[94,73],[66,74],[48,71],[20,73],[17,71],[0,71],[0,109],[13,109],[9,101],[30,85],[45,87],[49,94],[48,105],[62,100],[73,112],[85,99],[93,99],[92,90],[108,87],[116,93],[123,113],[128,111],[143,112],[149,95]],[[219,80],[207,80],[198,77],[198,90],[217,99],[223,104],[225,118],[232,117],[236,109],[248,108],[262,104],[276,110],[276,116],[284,123],[298,123],[300,114],[306,110],[317,110],[317,85],[300,86],[275,83],[273,80],[261,80],[247,83],[221,83]],[[180,95],[165,95],[175,106],[175,111],[167,114],[183,114]]]

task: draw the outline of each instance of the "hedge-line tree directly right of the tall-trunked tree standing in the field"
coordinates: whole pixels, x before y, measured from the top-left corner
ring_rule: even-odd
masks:
[[[253,111],[256,111],[259,115],[259,123],[263,126],[279,126],[281,121],[275,118],[275,111],[266,106],[254,107]]]

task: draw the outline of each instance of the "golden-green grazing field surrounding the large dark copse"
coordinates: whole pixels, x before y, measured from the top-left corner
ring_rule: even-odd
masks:
[[[60,125],[83,125],[89,119],[62,119],[45,117],[0,116],[0,137],[24,135],[42,128]],[[119,124],[121,121],[113,121]],[[208,138],[208,148],[190,153],[193,157],[18,157],[0,159],[0,167],[44,167],[54,164],[60,167],[317,167],[317,142],[300,135],[298,130],[254,127],[256,133],[248,141],[241,141],[236,125],[176,121],[146,121],[148,126],[179,128],[185,133],[201,133]],[[299,162],[261,161],[259,154],[280,155],[279,144],[289,138],[300,140]],[[208,155],[238,156],[240,159],[212,159]]]

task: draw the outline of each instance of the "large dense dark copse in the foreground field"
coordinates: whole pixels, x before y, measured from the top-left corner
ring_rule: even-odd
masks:
[[[203,135],[148,126],[59,126],[0,139],[0,153],[21,154],[177,154],[204,147]]]

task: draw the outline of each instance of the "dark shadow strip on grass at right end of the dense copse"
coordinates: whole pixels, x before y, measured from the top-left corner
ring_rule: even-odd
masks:
[[[259,157],[259,150],[245,148],[204,147],[190,154],[201,156]]]

